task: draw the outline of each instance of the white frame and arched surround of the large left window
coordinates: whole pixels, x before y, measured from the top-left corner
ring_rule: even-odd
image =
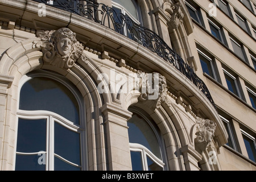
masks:
[[[72,94],[75,96],[76,101],[79,104],[79,119],[80,119],[80,125],[77,125],[76,123],[73,123],[69,121],[68,119],[62,117],[59,114],[53,113],[52,111],[46,111],[46,110],[20,110],[19,109],[19,100],[20,100],[20,90],[22,86],[29,80],[35,77],[46,77],[50,78],[56,82],[60,82],[60,84],[63,84],[67,89],[69,89]],[[67,162],[68,164],[71,164],[72,166],[80,167],[81,171],[85,171],[88,169],[88,152],[87,152],[87,136],[86,136],[86,117],[84,114],[85,108],[85,102],[84,98],[82,98],[79,90],[75,88],[75,85],[72,85],[71,81],[69,81],[67,78],[57,75],[52,72],[47,71],[36,71],[28,73],[27,75],[24,75],[19,82],[19,88],[18,88],[18,104],[17,104],[17,113],[16,113],[16,140],[15,140],[15,154],[14,154],[14,161],[16,161],[16,154],[21,155],[31,155],[31,154],[46,154],[46,171],[52,171],[54,169],[54,157],[63,160],[64,162]],[[23,152],[17,152],[16,146],[18,141],[18,120],[20,119],[46,119],[47,121],[47,134],[46,134],[46,152],[35,152],[35,153],[23,153]],[[72,162],[68,162],[67,160],[61,158],[61,156],[54,154],[53,147],[54,147],[54,124],[58,123],[61,126],[65,127],[66,129],[70,131],[75,131],[76,133],[80,133],[80,155],[81,155],[81,166],[77,166],[76,164],[73,164]],[[14,170],[15,170],[15,163],[14,163]]]

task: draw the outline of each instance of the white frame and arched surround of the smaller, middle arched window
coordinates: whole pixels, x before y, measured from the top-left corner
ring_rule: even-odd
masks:
[[[156,164],[158,164],[160,167],[163,168],[163,170],[168,170],[167,166],[167,155],[165,152],[165,146],[164,146],[164,140],[163,137],[160,135],[160,131],[156,128],[157,126],[154,125],[154,121],[147,116],[147,114],[138,108],[130,108],[129,111],[131,111],[134,114],[138,114],[141,116],[145,122],[148,123],[148,125],[151,127],[152,131],[155,134],[155,137],[159,143],[159,149],[162,159],[159,159],[157,156],[155,156],[147,147],[143,146],[139,143],[129,143],[130,151],[138,151],[142,152],[142,164],[143,164],[143,170],[148,171],[148,165],[147,165],[147,156],[150,157],[151,160],[153,160]]]

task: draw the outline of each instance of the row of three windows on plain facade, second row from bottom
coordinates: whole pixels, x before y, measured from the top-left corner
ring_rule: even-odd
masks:
[[[215,63],[215,59],[212,58],[212,56],[209,56],[209,54],[202,51],[202,49],[198,48],[197,51],[199,52],[199,59],[200,59],[200,63],[201,63],[203,72],[206,73],[207,75],[209,75],[210,77],[212,77],[214,80],[216,80],[218,82],[222,82],[223,80],[221,80],[220,73],[217,72],[217,66]],[[228,68],[222,67],[222,72],[224,73],[225,81],[226,81],[226,84],[227,84],[230,92],[236,94],[236,96],[241,98],[241,100],[246,101],[246,97],[245,97],[246,93],[242,92],[242,86],[240,85],[241,82],[239,81],[238,76],[235,75],[234,73],[232,73],[231,71],[229,71]],[[249,96],[247,98],[249,98],[249,100],[250,100],[247,102],[249,102],[251,107],[256,109],[255,88],[249,84],[246,84],[245,88],[246,88],[247,94]]]

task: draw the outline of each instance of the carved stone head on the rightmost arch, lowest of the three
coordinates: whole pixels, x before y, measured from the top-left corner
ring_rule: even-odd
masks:
[[[196,121],[195,149],[201,154],[209,147],[210,142],[212,142],[217,125],[210,119],[203,119],[200,117],[197,117]]]

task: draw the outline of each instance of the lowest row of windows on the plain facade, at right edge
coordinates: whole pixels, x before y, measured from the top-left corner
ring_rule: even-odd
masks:
[[[230,148],[233,148],[233,150],[240,152],[241,154],[243,153],[241,150],[242,145],[244,144],[244,147],[246,148],[247,156],[250,160],[253,160],[253,162],[256,162],[256,140],[253,135],[247,133],[243,129],[239,129],[240,132],[239,134],[234,132],[237,131],[234,129],[234,125],[232,122],[232,119],[226,119],[222,115],[220,115],[220,118],[222,122],[224,123],[226,127],[226,131],[228,131],[228,143],[226,143],[227,146]],[[241,134],[241,135],[240,135]],[[242,136],[243,143],[238,142],[239,135]]]

